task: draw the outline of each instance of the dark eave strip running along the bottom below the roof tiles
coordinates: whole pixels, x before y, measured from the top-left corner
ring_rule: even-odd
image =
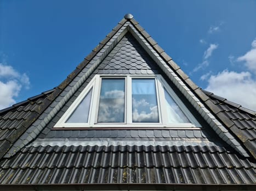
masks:
[[[256,184],[69,183],[0,184],[1,190],[256,190]]]

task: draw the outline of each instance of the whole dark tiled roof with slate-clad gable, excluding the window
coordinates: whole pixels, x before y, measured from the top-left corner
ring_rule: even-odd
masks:
[[[53,129],[96,74],[163,75],[203,128]],[[0,128],[0,188],[256,182],[255,112],[196,86],[131,15],[58,87],[0,112]]]

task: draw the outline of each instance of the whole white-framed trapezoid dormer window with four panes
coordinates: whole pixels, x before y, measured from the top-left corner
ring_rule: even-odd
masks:
[[[55,127],[200,127],[161,75],[96,75]]]

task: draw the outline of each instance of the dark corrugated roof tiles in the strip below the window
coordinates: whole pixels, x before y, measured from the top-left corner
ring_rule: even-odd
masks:
[[[255,183],[255,164],[224,147],[23,148],[0,162],[4,184]]]

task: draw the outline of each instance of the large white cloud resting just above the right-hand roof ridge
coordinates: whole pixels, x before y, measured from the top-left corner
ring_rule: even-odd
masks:
[[[256,80],[248,71],[223,70],[209,77],[206,90],[256,111]]]

